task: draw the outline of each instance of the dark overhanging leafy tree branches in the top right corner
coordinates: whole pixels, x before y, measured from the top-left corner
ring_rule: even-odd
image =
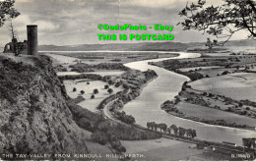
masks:
[[[224,45],[234,32],[241,29],[249,31],[248,37],[256,36],[253,25],[256,19],[255,1],[224,0],[224,4],[217,7],[206,7],[205,4],[206,0],[187,4],[178,14],[185,17],[185,20],[178,25],[181,25],[183,30],[196,29],[218,38],[225,38],[219,45]]]

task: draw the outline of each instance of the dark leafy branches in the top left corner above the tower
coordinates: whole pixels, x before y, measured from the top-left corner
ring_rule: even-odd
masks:
[[[8,20],[12,20],[21,15],[14,8],[15,0],[0,1],[0,27],[3,27],[4,23]]]

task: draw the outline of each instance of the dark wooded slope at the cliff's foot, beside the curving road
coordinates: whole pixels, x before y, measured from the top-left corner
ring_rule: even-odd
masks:
[[[78,100],[70,99],[68,107],[70,108],[73,119],[79,127],[92,132],[92,139],[100,144],[109,143],[112,148],[118,152],[125,152],[125,147],[121,144],[120,139],[124,140],[143,140],[160,138],[160,134],[154,132],[138,131],[129,128],[111,120],[105,120],[101,115],[93,113],[79,105]]]

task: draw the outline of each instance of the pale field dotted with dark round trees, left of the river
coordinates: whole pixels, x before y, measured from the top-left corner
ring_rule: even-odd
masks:
[[[107,92],[107,89],[104,89],[104,85],[106,82],[101,81],[101,80],[84,80],[81,82],[78,82],[81,80],[64,80],[64,84],[67,90],[67,94],[71,98],[76,98],[77,96],[83,96],[86,98],[85,101],[80,102],[79,105],[87,108],[93,112],[96,112],[96,107],[97,105],[109,95]],[[87,82],[90,82],[90,84],[87,84]],[[77,91],[73,91],[73,88],[76,87]],[[113,85],[109,86],[110,88],[113,89],[113,93],[116,93],[118,91],[121,91],[121,87],[115,87]],[[95,94],[95,99],[91,99],[91,96],[94,94],[94,89],[98,90],[98,93]],[[85,93],[81,94],[81,90],[84,90]]]

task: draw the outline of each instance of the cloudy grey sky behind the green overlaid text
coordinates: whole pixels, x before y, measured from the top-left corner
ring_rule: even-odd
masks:
[[[3,0],[0,0],[3,1]],[[187,2],[189,1],[189,2]],[[176,26],[184,18],[178,13],[187,3],[197,0],[16,0],[15,8],[21,15],[13,21],[20,41],[27,39],[27,25],[38,26],[39,45],[77,45],[98,43],[136,43],[146,40],[99,40],[98,33],[166,33],[173,34],[173,42],[205,42],[208,34],[197,30],[182,30]],[[222,0],[208,0],[207,5],[220,5]],[[0,27],[0,47],[11,41],[6,22]],[[154,30],[99,30],[98,24],[173,26],[171,31]],[[245,39],[242,30],[231,39]],[[156,42],[156,40],[148,40]],[[160,40],[162,41],[162,40]],[[165,40],[166,41],[166,40]]]

